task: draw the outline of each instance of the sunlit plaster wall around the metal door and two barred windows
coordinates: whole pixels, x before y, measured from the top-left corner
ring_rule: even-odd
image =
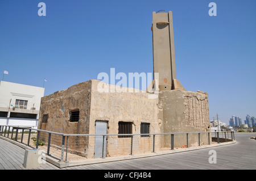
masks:
[[[158,99],[148,99],[149,93],[139,91],[117,92],[116,87],[108,85],[109,92],[99,92],[98,83],[92,80],[92,98],[90,110],[90,134],[95,134],[95,121],[108,121],[108,134],[118,134],[118,122],[132,122],[132,133],[141,133],[141,123],[150,123],[150,133],[160,133],[162,123],[158,122]],[[115,90],[111,92],[111,90]],[[108,137],[108,156],[130,153],[131,138]],[[90,150],[94,150],[94,141],[90,141]],[[133,153],[150,151],[152,137],[135,136]],[[121,152],[120,149],[122,150]],[[90,154],[92,155],[92,153]]]

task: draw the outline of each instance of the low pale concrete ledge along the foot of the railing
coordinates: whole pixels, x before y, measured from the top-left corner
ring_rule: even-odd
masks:
[[[31,149],[32,147],[26,146],[24,144],[21,144],[20,142],[16,142],[14,140],[11,140],[10,138],[6,138],[3,136],[0,136],[3,140],[9,141],[15,145],[20,146],[23,149]],[[92,158],[92,159],[81,159],[78,161],[69,161],[69,162],[60,162],[57,159],[54,159],[50,156],[46,156],[46,161],[49,163],[52,163],[52,165],[55,165],[59,168],[64,167],[72,167],[72,166],[80,166],[80,165],[90,165],[95,163],[105,163],[105,162],[114,162],[114,161],[123,161],[127,159],[137,159],[137,158],[146,158],[146,157],[154,157],[158,155],[164,155],[164,154],[173,154],[173,153],[181,153],[184,151],[192,151],[192,150],[199,150],[199,149],[205,149],[205,148],[213,148],[216,146],[224,146],[224,145],[230,145],[230,144],[236,144],[236,140],[229,141],[229,142],[221,142],[219,144],[211,144],[211,145],[202,145],[202,146],[195,146],[191,148],[183,148],[183,149],[175,149],[175,150],[166,150],[166,151],[159,151],[154,153],[144,153],[144,154],[137,154],[137,155],[122,155],[117,157],[106,157],[106,158]]]

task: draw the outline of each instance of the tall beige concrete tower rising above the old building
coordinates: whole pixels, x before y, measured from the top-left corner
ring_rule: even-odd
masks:
[[[172,11],[153,12],[151,30],[154,74],[158,73],[159,75],[159,90],[185,90],[176,79]],[[154,77],[154,79],[156,78]]]

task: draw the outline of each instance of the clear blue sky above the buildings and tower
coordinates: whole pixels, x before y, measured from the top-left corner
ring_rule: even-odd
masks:
[[[38,16],[38,3],[46,16]],[[209,16],[210,2],[217,16]],[[152,72],[152,11],[172,11],[177,79],[218,113],[256,116],[256,1],[0,0],[0,71],[45,95],[101,72]],[[3,74],[0,73],[1,80]]]

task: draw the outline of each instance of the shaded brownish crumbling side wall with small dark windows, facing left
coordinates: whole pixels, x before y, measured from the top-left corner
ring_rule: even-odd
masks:
[[[91,81],[78,83],[66,90],[54,92],[51,95],[44,96],[41,99],[39,129],[57,133],[86,134],[89,133],[89,116],[90,116],[90,91]],[[78,122],[69,121],[70,112],[73,110],[80,111]],[[43,115],[48,114],[47,123],[43,122]],[[40,140],[47,143],[48,134],[40,134]],[[85,138],[70,137],[70,148],[78,148],[81,139]],[[86,141],[85,141],[86,142]],[[61,145],[61,137],[52,134],[51,144]],[[86,144],[86,143],[85,143]]]

